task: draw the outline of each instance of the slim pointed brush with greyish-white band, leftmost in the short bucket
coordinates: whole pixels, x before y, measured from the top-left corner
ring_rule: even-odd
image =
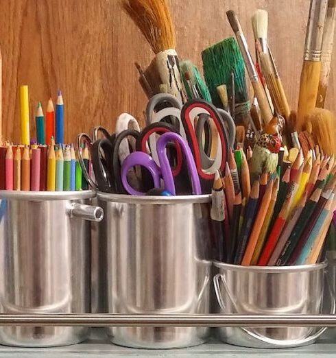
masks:
[[[216,235],[216,259],[224,261],[224,190],[219,171],[215,173],[212,190],[211,219]]]

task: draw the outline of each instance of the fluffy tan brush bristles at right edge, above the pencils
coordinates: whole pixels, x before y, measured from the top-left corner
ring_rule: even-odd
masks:
[[[314,108],[306,115],[305,121],[311,124],[312,133],[324,153],[336,153],[336,120],[333,113],[324,108]]]

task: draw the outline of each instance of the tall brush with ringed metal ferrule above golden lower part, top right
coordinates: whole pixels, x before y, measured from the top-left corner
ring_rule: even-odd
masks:
[[[321,73],[321,51],[324,20],[328,0],[311,0],[304,45],[304,61],[300,79],[298,120],[296,130],[302,130],[304,116],[315,108]]]

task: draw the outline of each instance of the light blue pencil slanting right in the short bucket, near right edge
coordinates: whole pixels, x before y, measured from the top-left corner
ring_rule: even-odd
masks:
[[[326,202],[326,205],[324,206],[322,212],[320,213],[317,222],[315,226],[313,227],[313,230],[311,230],[311,233],[307,239],[307,242],[304,244],[304,247],[300,251],[300,255],[295,261],[295,265],[304,265],[307,262],[307,259],[311,252],[313,251],[314,244],[316,243],[318,237],[321,235],[322,227],[324,226],[324,223],[328,219],[331,213],[331,207],[333,204],[335,198],[335,194],[332,193],[330,198],[328,199],[328,202]]]

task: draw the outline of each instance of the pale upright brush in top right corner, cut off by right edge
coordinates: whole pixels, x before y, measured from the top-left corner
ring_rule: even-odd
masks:
[[[326,22],[324,23],[322,54],[321,54],[321,74],[320,84],[318,86],[316,107],[324,108],[326,100],[326,88],[331,69],[331,55],[333,53],[335,19],[336,19],[336,0],[328,1],[328,10],[326,10]]]

